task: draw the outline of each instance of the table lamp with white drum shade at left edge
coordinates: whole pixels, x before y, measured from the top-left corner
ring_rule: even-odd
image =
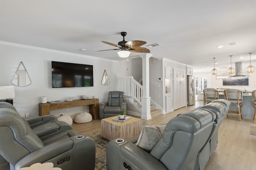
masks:
[[[0,86],[0,101],[13,104],[11,98],[15,97],[14,86]]]

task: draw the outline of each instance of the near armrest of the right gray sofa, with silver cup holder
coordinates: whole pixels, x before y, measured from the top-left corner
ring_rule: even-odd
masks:
[[[150,153],[125,140],[123,143],[116,143],[115,140],[108,143],[106,160],[108,170],[120,170],[124,166],[142,170],[167,170]]]

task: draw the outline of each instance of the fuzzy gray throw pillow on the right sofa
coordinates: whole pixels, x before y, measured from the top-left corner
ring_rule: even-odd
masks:
[[[163,137],[166,125],[146,125],[142,128],[136,145],[150,152],[156,143]]]

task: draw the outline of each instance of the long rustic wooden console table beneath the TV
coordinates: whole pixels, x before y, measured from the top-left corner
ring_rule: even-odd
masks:
[[[54,109],[63,109],[68,107],[77,107],[77,106],[87,106],[89,105],[89,112],[92,115],[92,119],[99,119],[99,99],[90,99],[90,100],[73,100],[72,102],[62,102],[62,103],[40,103],[39,104],[39,115],[50,115],[50,110]]]

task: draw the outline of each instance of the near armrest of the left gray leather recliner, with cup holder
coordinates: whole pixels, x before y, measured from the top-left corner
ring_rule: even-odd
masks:
[[[70,156],[68,162],[60,165],[57,164],[58,160],[67,156]],[[62,168],[62,170],[70,170],[72,168],[82,169],[82,167],[86,167],[88,170],[94,170],[94,141],[87,135],[77,135],[62,139],[28,154],[17,162],[15,170],[44,162],[52,162],[54,167]]]

